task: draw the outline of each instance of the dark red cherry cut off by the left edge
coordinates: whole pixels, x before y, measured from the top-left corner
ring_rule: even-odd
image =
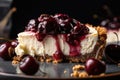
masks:
[[[6,42],[0,45],[0,57],[4,60],[11,60],[14,56],[14,48],[11,42]]]

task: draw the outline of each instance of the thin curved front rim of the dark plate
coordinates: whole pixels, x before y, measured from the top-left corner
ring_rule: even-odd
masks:
[[[0,72],[0,76],[2,77],[12,77],[12,78],[26,78],[26,79],[99,79],[99,78],[107,78],[107,77],[115,77],[115,76],[120,76],[120,72],[115,72],[115,73],[109,73],[105,75],[94,75],[94,76],[88,76],[88,77],[81,77],[81,78],[75,78],[75,77],[69,77],[69,78],[50,78],[50,77],[43,77],[43,76],[34,76],[34,75],[19,75],[19,74],[10,74],[10,73],[4,73]]]

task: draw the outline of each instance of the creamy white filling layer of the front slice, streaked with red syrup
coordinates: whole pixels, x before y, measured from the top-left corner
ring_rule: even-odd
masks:
[[[88,27],[88,26],[87,26]],[[32,56],[43,56],[62,52],[63,55],[85,55],[94,50],[98,40],[98,32],[95,28],[89,26],[89,34],[83,39],[80,38],[79,45],[73,46],[66,41],[65,34],[46,35],[42,41],[36,38],[36,33],[31,31],[21,32],[18,34],[18,46],[15,48],[16,55],[23,56],[29,54]],[[76,54],[77,53],[77,54]]]

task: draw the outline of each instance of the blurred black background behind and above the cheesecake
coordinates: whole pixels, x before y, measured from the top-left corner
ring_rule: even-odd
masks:
[[[120,16],[118,3],[118,0],[0,0],[0,21],[9,15],[0,36],[15,39],[30,19],[43,13],[65,13],[82,23],[99,25],[108,17]]]

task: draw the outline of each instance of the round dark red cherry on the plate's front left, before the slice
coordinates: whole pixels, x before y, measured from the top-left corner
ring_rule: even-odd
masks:
[[[26,56],[19,63],[20,70],[27,75],[34,75],[39,69],[39,63],[32,56]]]

